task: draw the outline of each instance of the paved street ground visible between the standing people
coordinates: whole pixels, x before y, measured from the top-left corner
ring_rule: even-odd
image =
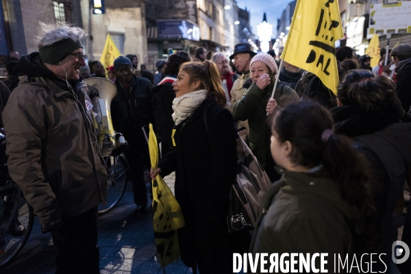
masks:
[[[165,178],[174,192],[174,173]],[[147,189],[150,187],[147,184]],[[151,201],[149,201],[151,205]],[[119,205],[99,217],[100,273],[162,274],[156,258],[151,208],[138,219],[132,216],[136,206],[133,202],[132,184]],[[55,273],[55,258],[58,249],[53,245],[51,234],[42,234],[38,219],[34,223],[29,241],[17,260],[1,270],[1,274],[51,274]],[[191,269],[181,260],[165,267],[166,274],[188,274]]]

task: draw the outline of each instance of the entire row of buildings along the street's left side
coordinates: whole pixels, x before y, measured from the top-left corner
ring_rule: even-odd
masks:
[[[235,0],[105,0],[104,12],[93,14],[93,0],[1,0],[0,66],[9,51],[37,51],[40,22],[68,22],[86,32],[88,60],[99,60],[107,34],[123,55],[155,71],[155,61],[168,49],[191,55],[198,46],[231,54],[238,42],[253,42],[247,8]],[[164,55],[164,56],[163,56]],[[1,70],[3,73],[3,70]],[[1,76],[1,75],[0,75]]]

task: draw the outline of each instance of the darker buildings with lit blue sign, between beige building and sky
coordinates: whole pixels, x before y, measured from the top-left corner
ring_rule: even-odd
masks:
[[[242,40],[242,26],[251,34],[249,16],[241,18],[241,11],[234,0],[147,1],[148,54],[155,61],[173,49],[193,57],[199,46],[231,54]]]

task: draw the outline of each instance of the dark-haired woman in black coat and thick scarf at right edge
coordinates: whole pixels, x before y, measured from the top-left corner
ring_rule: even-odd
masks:
[[[336,133],[356,138],[373,167],[382,239],[375,253],[386,253],[382,260],[389,266],[391,246],[397,240],[393,211],[411,171],[411,123],[395,95],[394,82],[385,76],[375,77],[371,71],[347,73],[338,86],[337,98],[338,107],[330,110]],[[405,227],[403,241],[407,234]]]

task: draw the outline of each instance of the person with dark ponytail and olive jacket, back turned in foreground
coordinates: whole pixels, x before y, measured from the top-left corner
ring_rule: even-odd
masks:
[[[343,260],[349,255],[351,264],[353,253],[373,240],[366,160],[349,138],[334,134],[331,115],[314,101],[278,110],[271,131],[271,154],[282,178],[266,195],[250,250],[253,256],[299,253],[304,258],[328,253],[325,269],[334,273],[334,254]],[[296,260],[293,268],[301,270]],[[315,266],[320,269],[319,258]]]

